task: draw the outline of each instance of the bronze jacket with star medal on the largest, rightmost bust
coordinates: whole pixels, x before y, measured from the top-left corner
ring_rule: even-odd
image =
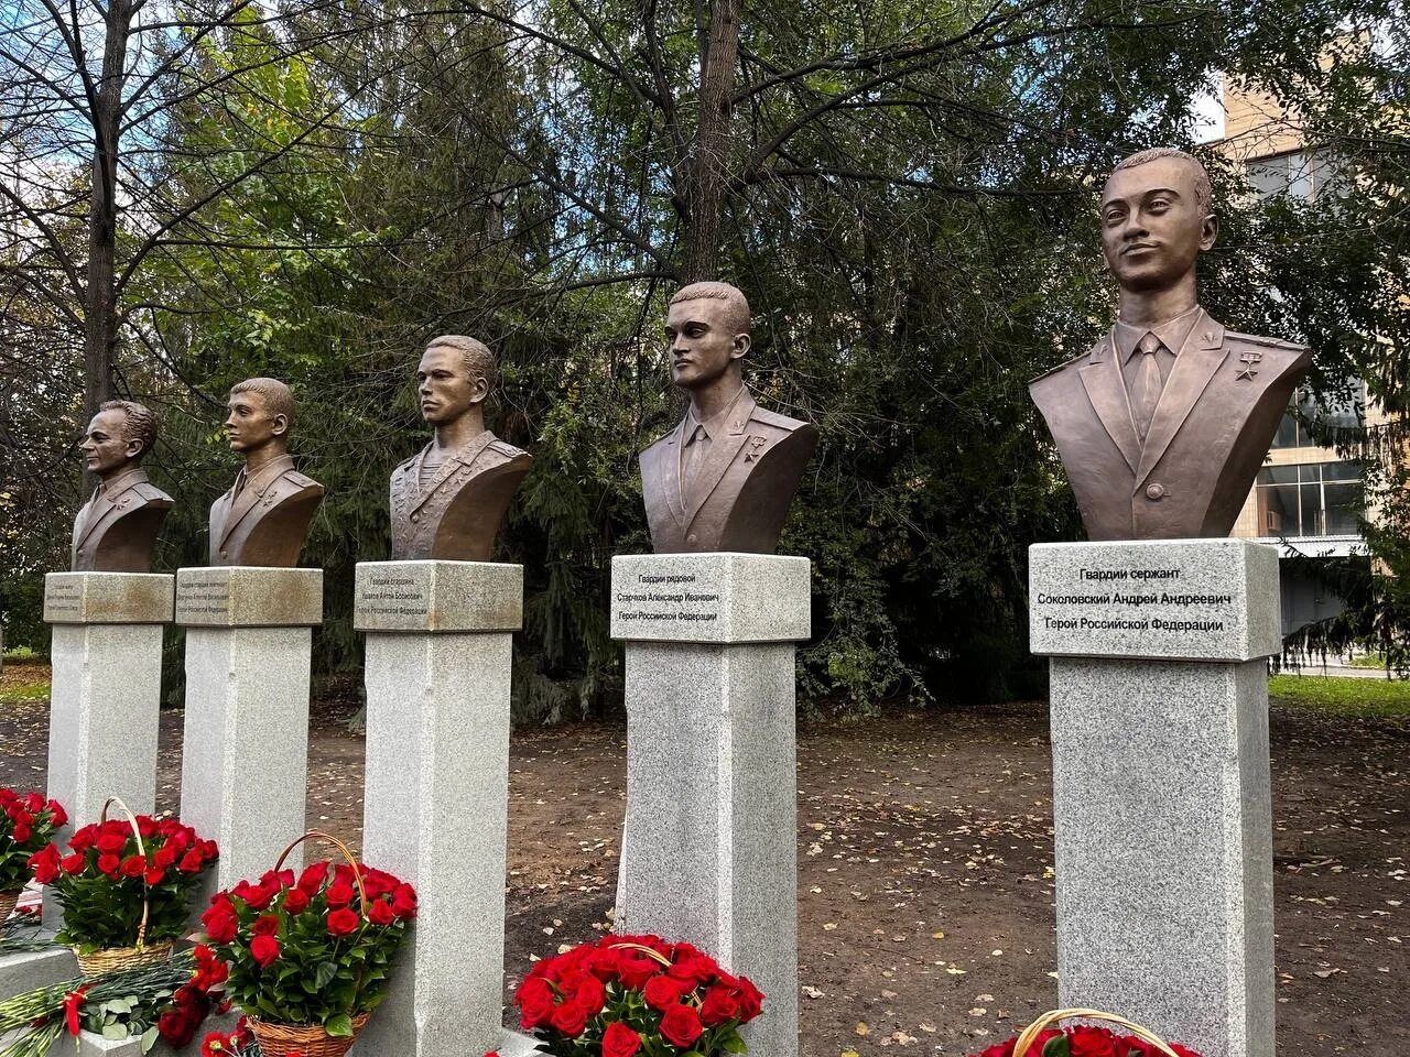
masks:
[[[1093,540],[1228,536],[1311,352],[1200,311],[1136,434],[1114,333],[1029,385]]]

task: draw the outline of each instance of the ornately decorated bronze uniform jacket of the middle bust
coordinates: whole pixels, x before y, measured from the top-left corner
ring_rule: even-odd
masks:
[[[485,430],[422,489],[427,444],[392,471],[392,558],[486,561],[533,457]]]

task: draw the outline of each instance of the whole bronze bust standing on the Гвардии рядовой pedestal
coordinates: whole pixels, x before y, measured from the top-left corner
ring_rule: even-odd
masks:
[[[729,283],[692,283],[666,317],[671,376],[691,397],[685,417],[642,452],[651,547],[773,554],[818,430],[754,403],[740,362],[749,302]]]

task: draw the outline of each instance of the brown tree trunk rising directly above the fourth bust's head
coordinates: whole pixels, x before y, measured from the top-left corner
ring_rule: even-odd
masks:
[[[730,97],[739,59],[742,0],[715,0],[709,42],[701,56],[701,121],[691,165],[689,210],[685,230],[687,283],[715,279],[719,266],[719,220],[729,179]]]

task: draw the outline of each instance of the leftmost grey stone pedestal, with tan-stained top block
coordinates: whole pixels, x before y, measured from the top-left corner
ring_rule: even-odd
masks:
[[[159,572],[44,578],[54,668],[48,793],[69,813],[56,834],[61,847],[78,826],[97,822],[109,796],[140,813],[155,806],[162,630],[172,619],[173,583]],[[58,929],[62,916],[45,898],[45,926]]]

